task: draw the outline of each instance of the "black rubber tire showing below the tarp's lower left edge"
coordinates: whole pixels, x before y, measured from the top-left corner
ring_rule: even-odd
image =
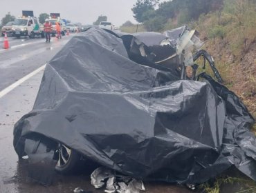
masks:
[[[60,160],[62,159],[61,154],[64,154],[64,152],[61,153],[61,151],[66,150],[66,148],[68,148],[66,147],[66,145],[60,145],[60,148],[58,150],[59,159],[57,161],[57,165],[55,166],[55,171],[60,174],[73,174],[74,172],[76,172],[77,163],[80,163],[81,154],[76,152],[75,150],[72,150],[71,148],[68,148],[69,150],[71,150],[71,153],[68,156],[68,159],[66,159],[66,163],[64,163]]]

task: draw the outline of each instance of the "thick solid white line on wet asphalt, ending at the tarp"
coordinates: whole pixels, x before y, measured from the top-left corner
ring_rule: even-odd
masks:
[[[10,91],[14,90],[18,85],[21,83],[24,83],[24,81],[30,79],[31,77],[35,76],[38,72],[41,70],[44,70],[46,68],[46,64],[42,65],[40,68],[37,68],[37,70],[34,70],[33,72],[30,72],[30,74],[26,75],[25,77],[19,79],[19,81],[16,81],[15,83],[9,85],[7,88],[3,89],[0,91],[0,99],[1,97],[5,96],[8,94]]]

